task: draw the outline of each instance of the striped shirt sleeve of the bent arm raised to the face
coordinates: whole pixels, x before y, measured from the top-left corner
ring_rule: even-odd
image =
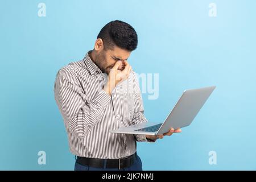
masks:
[[[77,138],[84,138],[100,121],[111,99],[109,94],[102,89],[93,100],[88,101],[77,78],[70,70],[63,69],[57,73],[54,93],[64,122]]]

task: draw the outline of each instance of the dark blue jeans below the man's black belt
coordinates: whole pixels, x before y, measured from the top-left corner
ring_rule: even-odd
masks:
[[[142,162],[138,154],[137,154],[137,159],[135,163],[133,163],[133,165],[131,165],[130,167],[123,168],[123,169],[90,167],[90,166],[81,165],[76,162],[75,171],[142,171]]]

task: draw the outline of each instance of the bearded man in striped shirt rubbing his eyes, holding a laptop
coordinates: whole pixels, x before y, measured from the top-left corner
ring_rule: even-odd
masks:
[[[171,129],[156,136],[110,133],[147,122],[138,80],[127,62],[137,44],[134,28],[115,20],[101,29],[94,49],[83,60],[57,73],[55,100],[70,151],[77,156],[75,170],[142,170],[136,142],[155,142],[181,132]]]

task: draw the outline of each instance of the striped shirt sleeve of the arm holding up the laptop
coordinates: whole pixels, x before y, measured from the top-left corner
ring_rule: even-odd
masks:
[[[138,77],[134,71],[131,72],[133,72],[134,76],[134,114],[132,123],[133,125],[135,125],[138,123],[147,122],[147,119],[144,116],[144,106],[141,95],[141,89],[139,88]],[[137,140],[137,142],[155,142],[155,140],[147,139],[146,135],[135,134],[134,137]]]

